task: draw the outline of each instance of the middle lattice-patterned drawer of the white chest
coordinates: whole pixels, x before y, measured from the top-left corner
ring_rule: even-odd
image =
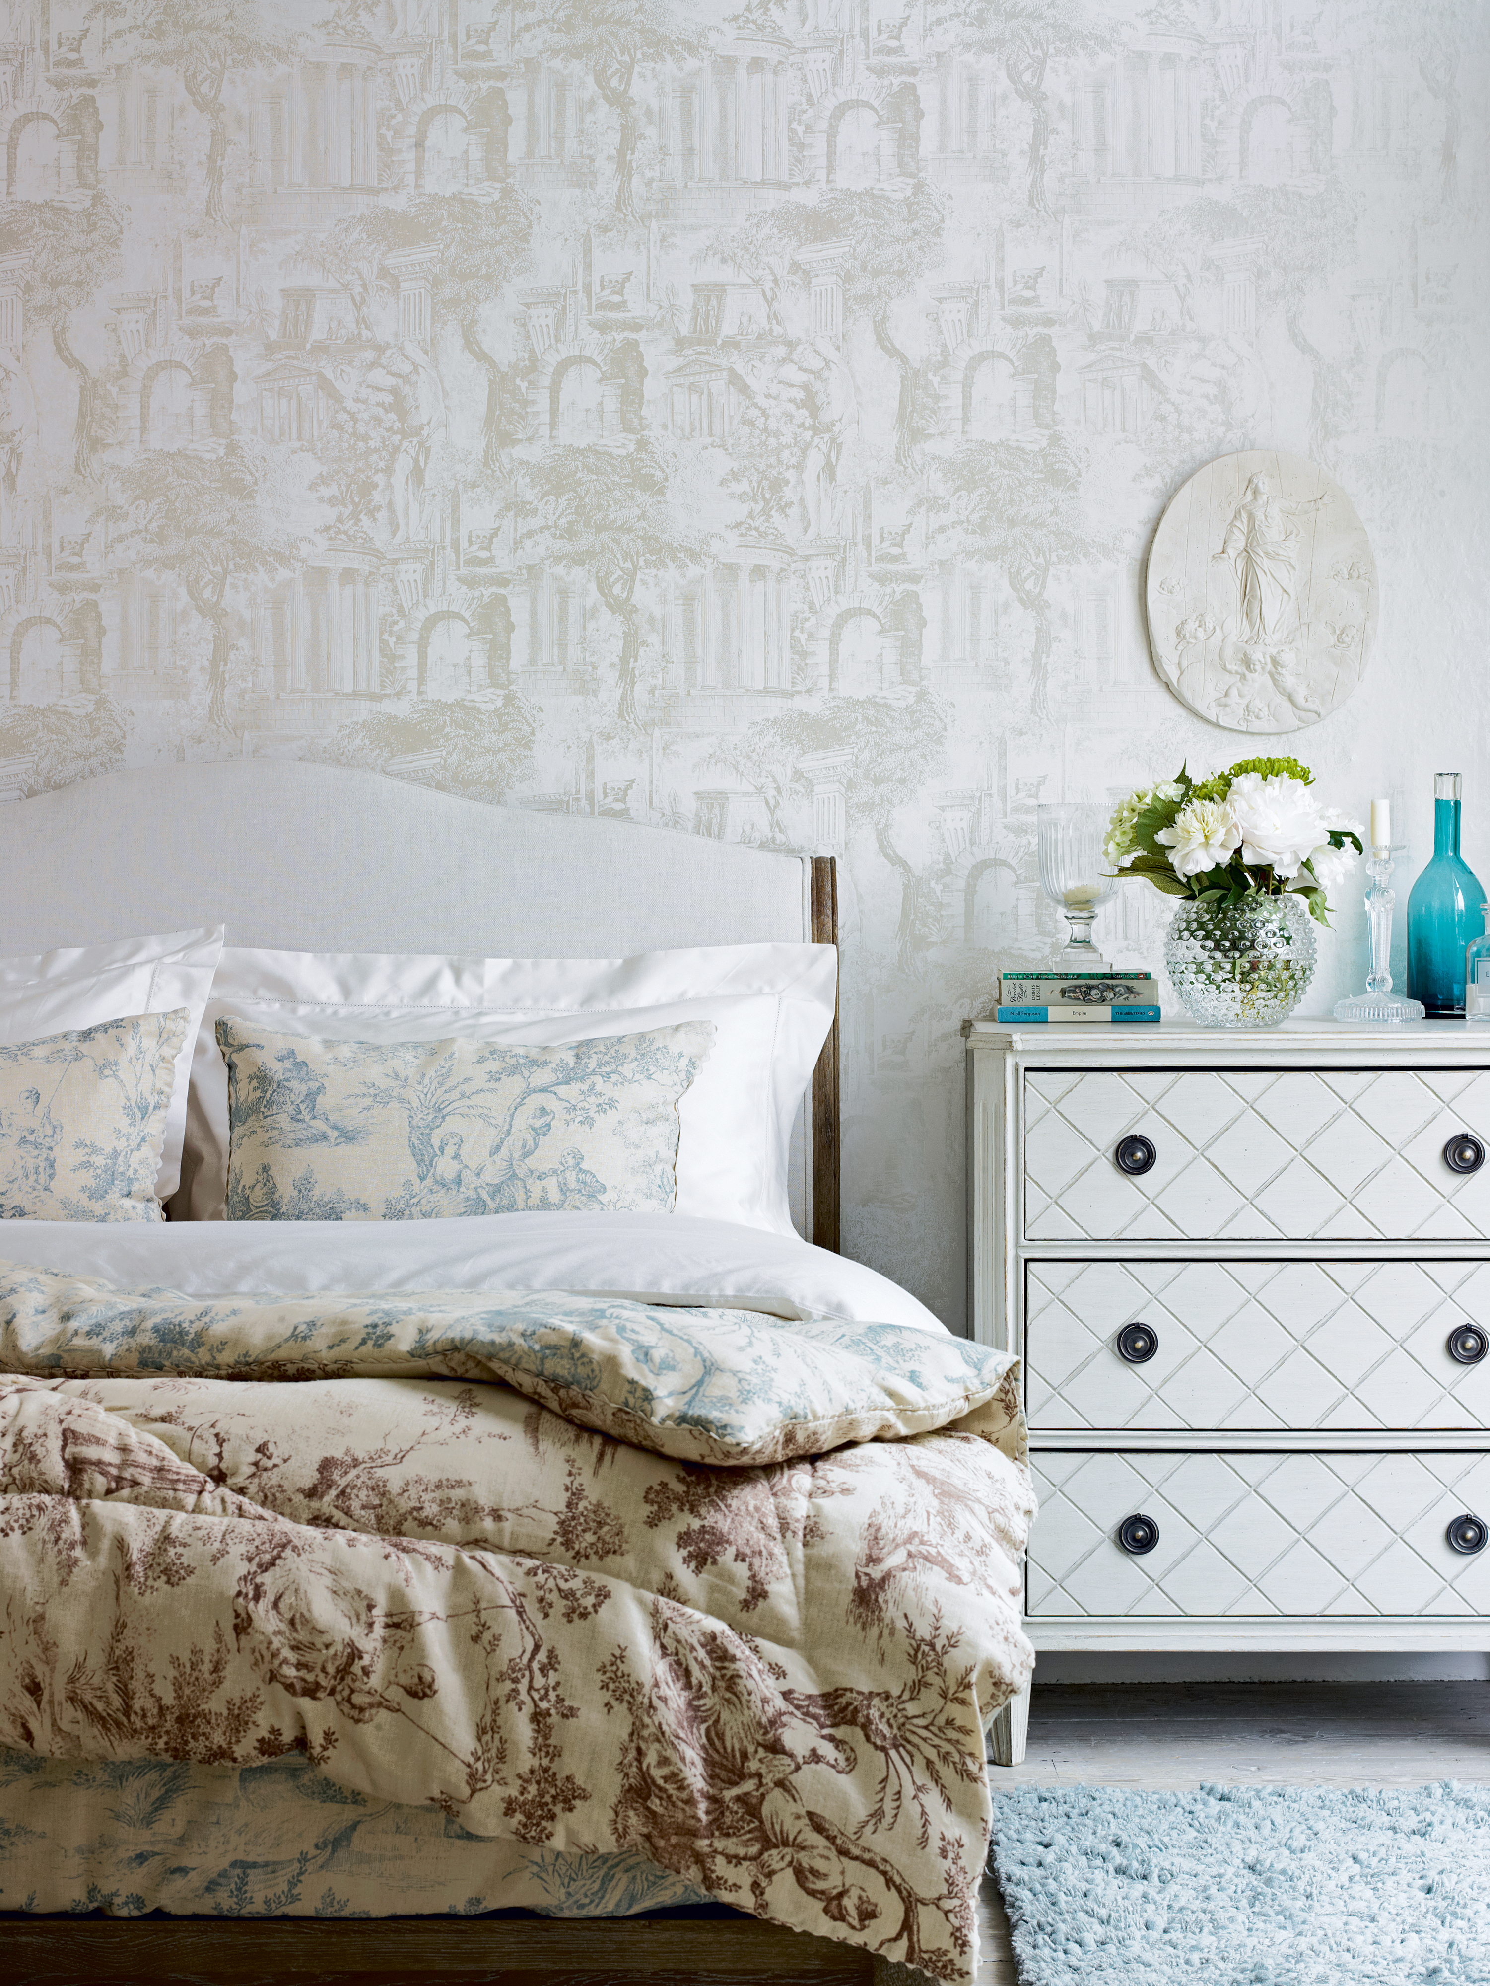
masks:
[[[1128,1325],[1148,1339],[1124,1356]],[[1025,1418],[1035,1432],[1490,1428],[1490,1263],[1031,1261]]]

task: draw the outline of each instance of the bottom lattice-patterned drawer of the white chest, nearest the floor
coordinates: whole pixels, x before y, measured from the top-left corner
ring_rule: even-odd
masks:
[[[1029,1615],[1490,1615],[1490,1456],[1077,1454],[1033,1458]],[[1126,1551],[1128,1517],[1158,1527]],[[1138,1535],[1138,1543],[1144,1537]]]

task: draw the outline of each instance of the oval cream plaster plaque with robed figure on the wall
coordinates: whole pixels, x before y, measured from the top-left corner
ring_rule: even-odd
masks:
[[[1226,731],[1303,731],[1365,675],[1377,562],[1317,463],[1248,449],[1170,498],[1144,582],[1154,667]]]

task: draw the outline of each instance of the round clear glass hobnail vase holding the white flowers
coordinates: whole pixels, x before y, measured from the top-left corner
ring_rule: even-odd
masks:
[[[1301,896],[1250,896],[1234,910],[1184,902],[1164,935],[1164,971],[1202,1027],[1277,1027],[1313,979],[1317,945]]]

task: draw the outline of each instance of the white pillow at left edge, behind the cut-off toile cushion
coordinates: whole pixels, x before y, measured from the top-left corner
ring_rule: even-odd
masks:
[[[205,931],[121,937],[111,945],[0,959],[0,1043],[75,1033],[125,1015],[187,1009],[187,1039],[175,1059],[161,1170],[155,1176],[157,1200],[169,1200],[181,1184],[193,1051],[221,951],[219,923]]]

